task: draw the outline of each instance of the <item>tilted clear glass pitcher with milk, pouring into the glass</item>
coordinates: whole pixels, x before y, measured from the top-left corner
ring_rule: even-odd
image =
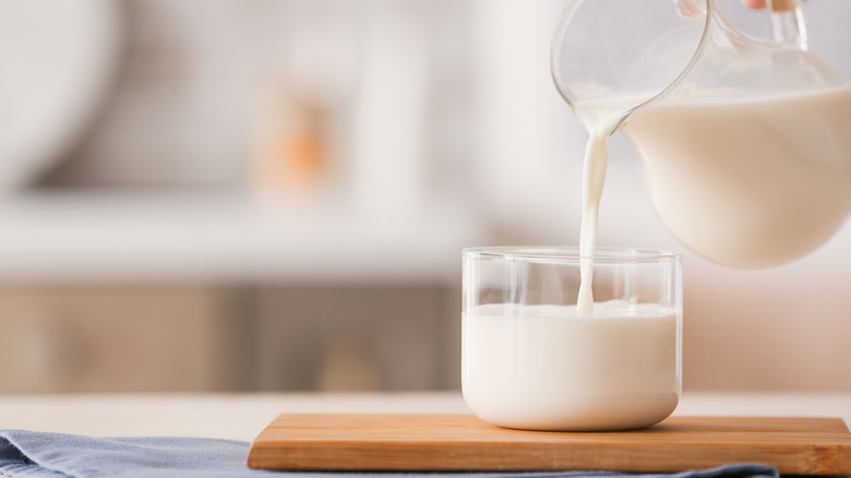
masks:
[[[715,0],[572,0],[553,39],[579,119],[614,118],[670,231],[736,267],[807,254],[851,210],[851,89],[806,51],[800,5],[774,7],[769,41]]]

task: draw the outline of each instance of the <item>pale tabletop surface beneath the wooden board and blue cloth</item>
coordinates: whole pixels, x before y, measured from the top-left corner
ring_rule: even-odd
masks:
[[[0,395],[0,428],[251,441],[280,414],[468,414],[459,393]],[[685,393],[675,415],[838,417],[851,393]]]

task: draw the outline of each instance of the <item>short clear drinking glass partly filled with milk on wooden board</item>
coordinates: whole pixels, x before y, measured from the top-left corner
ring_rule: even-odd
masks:
[[[626,430],[682,391],[682,256],[642,249],[463,252],[462,384],[479,418],[530,430]],[[578,314],[594,261],[594,313]]]

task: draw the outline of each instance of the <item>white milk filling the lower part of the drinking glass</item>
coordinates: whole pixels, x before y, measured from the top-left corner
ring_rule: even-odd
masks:
[[[479,306],[463,315],[464,399],[483,420],[536,430],[654,425],[682,390],[676,311],[598,302]]]

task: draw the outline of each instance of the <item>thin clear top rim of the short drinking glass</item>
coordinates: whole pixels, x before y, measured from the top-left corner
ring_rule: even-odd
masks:
[[[594,255],[583,255],[578,247],[567,246],[493,246],[471,247],[462,250],[464,256],[476,254],[504,260],[579,261],[594,259],[599,262],[682,261],[683,254],[662,249],[602,247]]]

